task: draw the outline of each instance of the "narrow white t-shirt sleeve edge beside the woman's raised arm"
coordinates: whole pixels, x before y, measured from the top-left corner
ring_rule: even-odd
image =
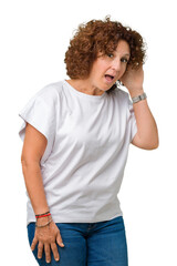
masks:
[[[133,109],[133,103],[131,102],[129,96],[128,96],[128,124],[131,127],[129,142],[132,142],[135,134],[137,133],[137,124],[136,124],[135,113],[134,113],[134,109]]]

